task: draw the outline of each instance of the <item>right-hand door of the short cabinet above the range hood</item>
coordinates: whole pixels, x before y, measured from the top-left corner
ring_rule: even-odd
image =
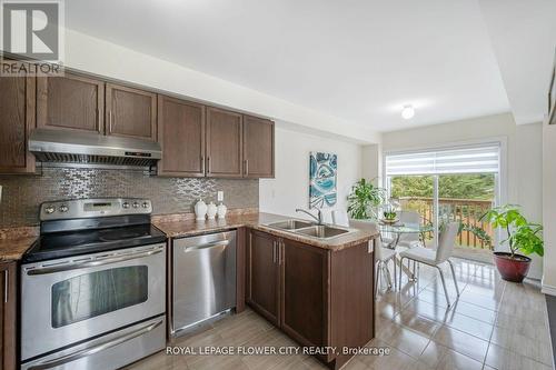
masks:
[[[157,94],[107,83],[106,134],[157,141]]]

